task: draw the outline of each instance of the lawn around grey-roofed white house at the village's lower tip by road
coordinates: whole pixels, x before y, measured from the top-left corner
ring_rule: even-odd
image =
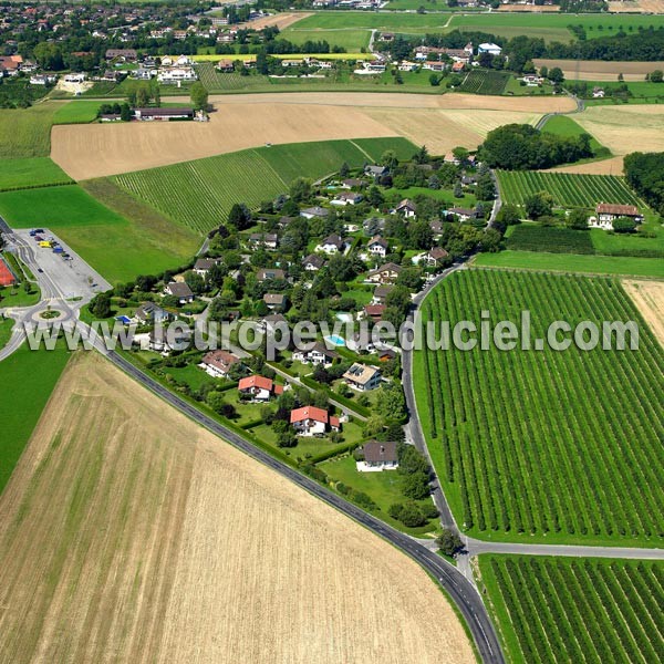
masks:
[[[383,470],[382,473],[359,473],[355,466],[355,459],[352,456],[345,456],[340,459],[330,459],[319,464],[319,468],[324,470],[331,480],[341,481],[357,491],[364,491],[380,507],[377,512],[384,521],[412,535],[423,535],[433,532],[438,526],[437,519],[433,519],[428,525],[419,528],[406,528],[400,521],[396,521],[387,513],[391,505],[407,500],[402,494],[404,476],[396,470]],[[429,499],[417,500],[419,505],[430,502]]]

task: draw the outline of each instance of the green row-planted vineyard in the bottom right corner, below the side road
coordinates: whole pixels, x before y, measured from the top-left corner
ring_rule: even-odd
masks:
[[[512,662],[662,660],[661,561],[481,556],[479,566]]]

